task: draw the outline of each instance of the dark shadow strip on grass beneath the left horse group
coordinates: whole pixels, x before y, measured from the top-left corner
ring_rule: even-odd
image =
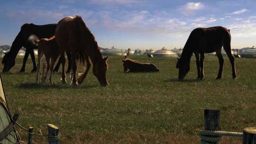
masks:
[[[72,86],[70,84],[42,84],[42,83],[22,83],[19,88],[22,89],[91,89],[100,87],[100,85],[77,85]]]

